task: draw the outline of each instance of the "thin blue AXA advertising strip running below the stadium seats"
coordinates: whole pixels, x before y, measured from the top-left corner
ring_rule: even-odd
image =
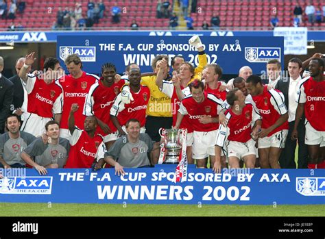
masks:
[[[273,31],[62,31],[62,32],[0,32],[0,42],[56,42],[58,36],[274,36]],[[309,31],[308,40],[325,41],[324,31]]]

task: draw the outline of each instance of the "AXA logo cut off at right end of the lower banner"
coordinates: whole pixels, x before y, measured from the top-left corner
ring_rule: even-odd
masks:
[[[304,196],[325,196],[325,177],[297,177],[296,191]]]

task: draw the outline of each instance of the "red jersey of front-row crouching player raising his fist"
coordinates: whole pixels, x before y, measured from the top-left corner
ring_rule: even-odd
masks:
[[[95,134],[91,138],[86,131],[76,127],[70,139],[69,157],[64,168],[91,168],[102,141],[101,135]]]

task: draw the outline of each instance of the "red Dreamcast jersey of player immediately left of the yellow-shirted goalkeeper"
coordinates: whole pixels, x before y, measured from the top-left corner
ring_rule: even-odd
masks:
[[[145,126],[145,110],[150,97],[150,90],[147,86],[140,86],[139,92],[132,92],[134,101],[125,104],[121,100],[121,93],[117,95],[115,102],[110,108],[110,114],[117,116],[117,120],[121,126],[125,125],[130,118],[136,118],[140,121],[141,127]]]

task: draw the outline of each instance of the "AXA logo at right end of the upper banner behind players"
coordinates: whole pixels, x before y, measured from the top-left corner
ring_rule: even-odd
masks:
[[[276,59],[281,62],[280,47],[245,47],[245,59],[248,62],[268,62]]]

